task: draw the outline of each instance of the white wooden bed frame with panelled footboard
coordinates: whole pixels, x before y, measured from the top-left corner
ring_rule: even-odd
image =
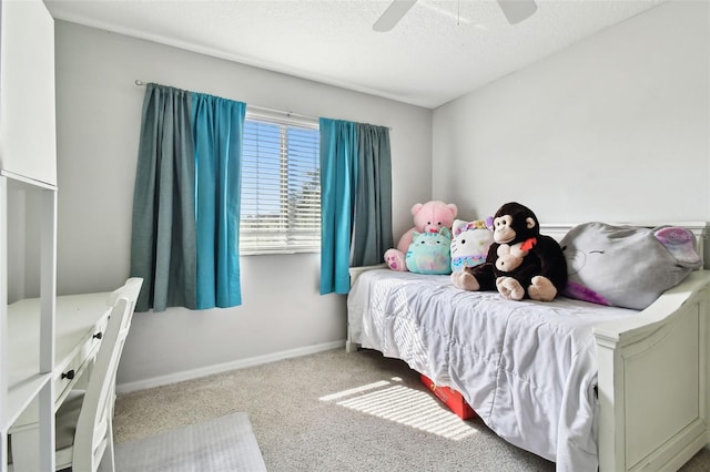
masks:
[[[692,230],[703,254],[707,223],[672,225]],[[572,226],[540,225],[557,239]],[[351,279],[382,267],[352,268]],[[594,335],[601,472],[676,471],[710,447],[710,270],[693,271],[638,317],[601,324]],[[357,348],[348,332],[347,351]]]

